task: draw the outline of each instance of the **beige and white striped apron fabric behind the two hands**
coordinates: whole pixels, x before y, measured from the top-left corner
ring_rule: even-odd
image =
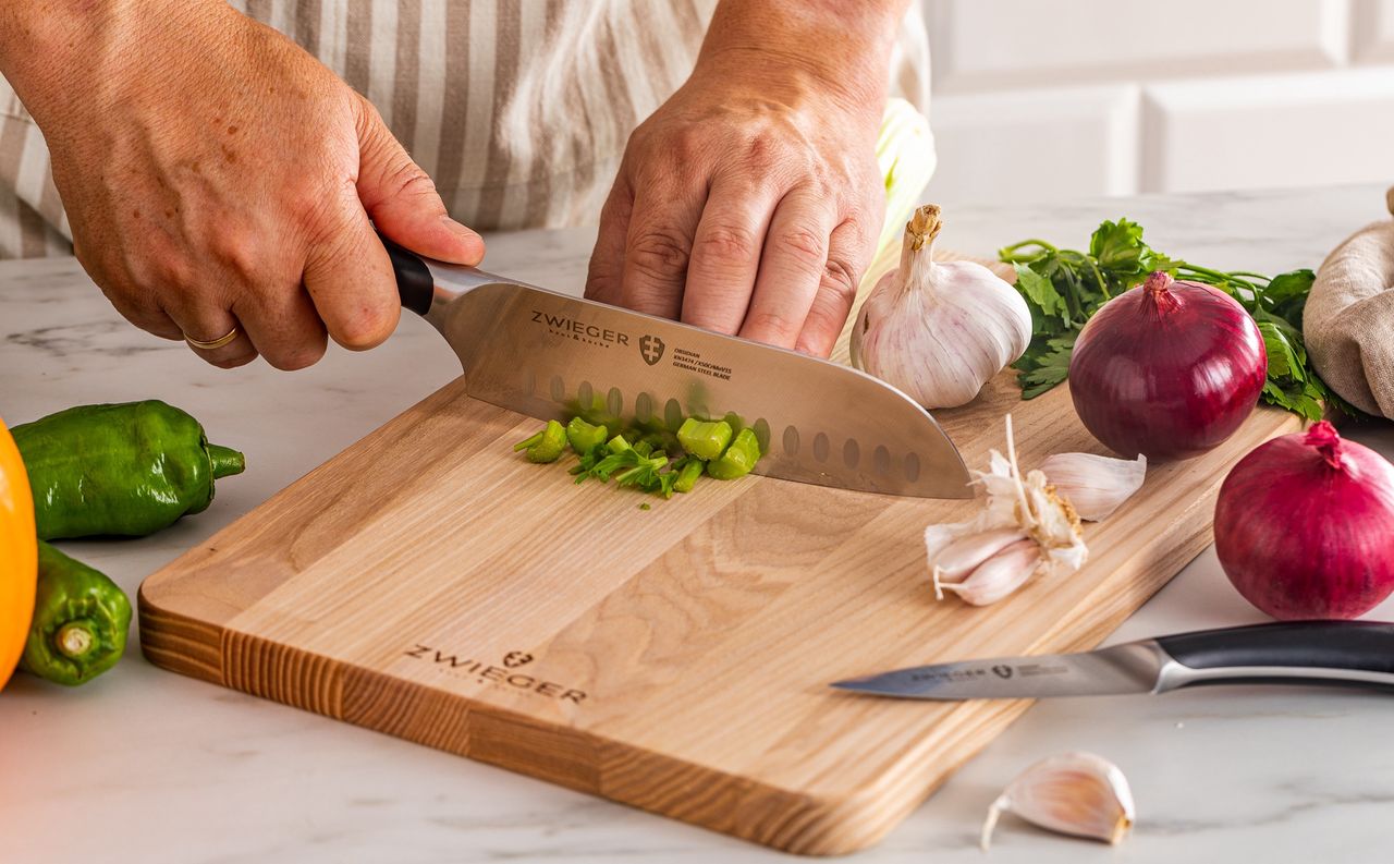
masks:
[[[687,78],[717,0],[231,0],[364,93],[477,230],[594,223],[630,131]],[[928,109],[912,4],[891,89]],[[38,127],[0,79],[0,258],[70,254]]]

